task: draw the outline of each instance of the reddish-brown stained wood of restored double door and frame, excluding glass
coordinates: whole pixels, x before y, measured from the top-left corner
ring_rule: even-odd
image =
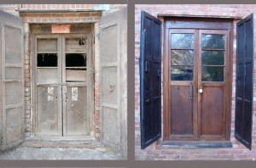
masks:
[[[173,21],[175,20],[175,21]],[[172,23],[171,23],[172,21]],[[230,139],[230,100],[231,100],[231,49],[232,20],[173,19],[166,20],[164,48],[164,141]],[[175,22],[175,24],[173,24]],[[183,29],[188,28],[188,29]],[[194,29],[191,29],[194,28]],[[207,30],[205,30],[207,29]],[[171,81],[171,33],[194,33],[193,81]],[[201,81],[201,34],[225,35],[224,81]],[[219,49],[216,49],[218,51]],[[223,49],[222,49],[223,50]],[[215,50],[212,50],[215,51]],[[212,65],[216,66],[216,65]],[[193,86],[193,98],[189,96],[189,85]],[[177,91],[177,88],[180,91]],[[203,92],[198,90],[203,88]],[[182,89],[181,89],[182,88]],[[206,90],[205,90],[206,89]],[[181,93],[185,97],[181,96]],[[183,98],[182,98],[183,97]],[[192,102],[192,104],[191,104]],[[216,105],[218,104],[218,106]],[[193,109],[193,110],[192,110]],[[188,115],[187,111],[193,111]],[[192,123],[188,120],[192,119]],[[185,124],[191,126],[186,126]],[[218,125],[218,126],[217,126]],[[192,129],[193,128],[193,129]],[[192,135],[188,132],[193,130]]]

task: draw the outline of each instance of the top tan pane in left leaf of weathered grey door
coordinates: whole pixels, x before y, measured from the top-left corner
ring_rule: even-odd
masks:
[[[38,38],[37,48],[38,52],[57,52],[58,40],[57,39],[46,39]]]

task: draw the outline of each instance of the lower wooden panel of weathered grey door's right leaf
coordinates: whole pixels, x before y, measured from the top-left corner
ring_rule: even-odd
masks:
[[[84,136],[88,132],[87,87],[67,87],[63,116],[64,136]]]

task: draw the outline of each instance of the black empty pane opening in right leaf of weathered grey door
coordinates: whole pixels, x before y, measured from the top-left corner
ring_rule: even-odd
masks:
[[[66,53],[66,67],[86,66],[86,53]]]

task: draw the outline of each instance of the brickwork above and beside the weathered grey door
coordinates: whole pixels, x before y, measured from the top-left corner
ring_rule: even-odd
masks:
[[[44,23],[94,23],[94,34],[97,36],[99,32],[99,20],[101,15],[111,13],[115,10],[125,8],[125,4],[0,4],[0,10],[20,16],[24,23],[24,45],[25,45],[25,132],[26,137],[29,137],[32,132],[32,102],[31,102],[31,69],[30,69],[30,31],[29,24],[44,24]],[[86,13],[19,13],[15,9],[90,9],[103,10],[101,12],[86,12]],[[100,140],[100,83],[99,83],[99,41],[95,41],[95,111],[93,116],[93,128],[96,140]]]

